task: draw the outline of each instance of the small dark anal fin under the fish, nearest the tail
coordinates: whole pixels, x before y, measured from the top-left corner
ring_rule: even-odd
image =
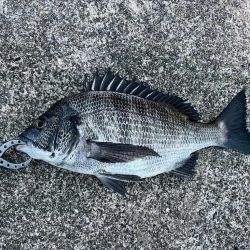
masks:
[[[191,178],[194,175],[194,167],[198,159],[198,152],[192,153],[186,160],[181,162],[181,166],[170,173],[181,177]]]

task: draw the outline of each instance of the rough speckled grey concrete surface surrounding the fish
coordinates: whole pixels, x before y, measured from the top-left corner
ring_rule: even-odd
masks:
[[[250,1],[0,0],[0,142],[111,67],[214,119],[250,103]],[[250,121],[248,109],[248,125]],[[34,161],[0,169],[0,249],[250,249],[250,157],[202,150],[193,180],[111,193]]]

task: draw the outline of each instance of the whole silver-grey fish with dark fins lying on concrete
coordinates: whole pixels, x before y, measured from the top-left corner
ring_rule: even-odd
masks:
[[[163,173],[192,178],[199,150],[220,147],[250,154],[246,90],[220,115],[200,122],[177,95],[154,90],[107,70],[85,91],[63,98],[18,138],[17,150],[51,165],[96,176],[126,194],[126,182]]]

